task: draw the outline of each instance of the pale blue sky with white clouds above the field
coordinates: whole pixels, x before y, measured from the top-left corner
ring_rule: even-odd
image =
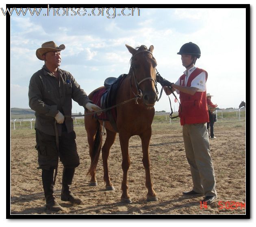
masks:
[[[237,108],[246,101],[245,9],[140,8],[139,16],[117,16],[121,9],[116,9],[116,17],[110,19],[106,13],[88,16],[91,9],[86,9],[85,16],[47,17],[46,9],[40,16],[11,16],[11,107],[29,108],[29,80],[43,65],[35,51],[51,40],[65,44],[61,69],[69,71],[87,94],[102,86],[105,78],[128,73],[131,54],[125,44],[154,45],[157,70],[176,82],[184,71],[177,52],[192,41],[200,46],[196,66],[208,71],[206,88],[214,95],[212,101],[220,108]],[[171,101],[174,105],[172,95]],[[166,95],[155,109],[170,110]],[[72,112],[79,111],[83,108],[73,102]]]

